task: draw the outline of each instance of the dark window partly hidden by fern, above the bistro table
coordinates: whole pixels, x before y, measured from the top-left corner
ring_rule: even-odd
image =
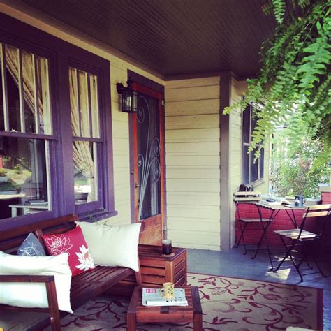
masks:
[[[251,145],[251,134],[256,126],[256,107],[247,105],[242,113],[242,177],[244,184],[254,184],[263,179],[264,173],[264,148],[254,163],[254,152],[248,149]]]

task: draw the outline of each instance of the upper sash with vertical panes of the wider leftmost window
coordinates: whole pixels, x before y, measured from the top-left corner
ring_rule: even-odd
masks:
[[[0,41],[0,65],[4,122],[4,125],[1,126],[2,131],[52,135],[48,59],[38,56],[34,52],[27,52],[22,47]],[[14,81],[18,93],[19,105],[18,109],[13,108],[13,114],[10,114],[8,104],[8,78]],[[11,93],[13,94],[13,92]],[[28,110],[33,113],[32,131],[27,131]],[[17,111],[19,117],[16,116]],[[10,126],[10,116],[16,117],[14,127]],[[41,123],[44,125],[41,126]]]

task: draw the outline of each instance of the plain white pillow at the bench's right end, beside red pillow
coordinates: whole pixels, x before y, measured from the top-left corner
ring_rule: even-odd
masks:
[[[138,241],[141,223],[106,226],[78,222],[96,265],[130,267],[139,271]]]

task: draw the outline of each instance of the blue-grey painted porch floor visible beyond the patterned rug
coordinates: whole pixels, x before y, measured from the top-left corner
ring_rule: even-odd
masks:
[[[248,247],[252,249],[253,247]],[[281,266],[277,273],[270,272],[269,257],[260,253],[255,259],[251,259],[253,251],[243,254],[243,247],[231,249],[230,251],[208,251],[203,249],[188,249],[188,270],[202,274],[215,274],[228,277],[239,277],[261,281],[274,281],[285,284],[296,284],[299,286],[311,286],[323,288],[323,327],[324,330],[331,330],[331,258],[330,255],[321,258],[321,268],[327,276],[321,274],[310,274],[304,276],[300,283],[293,264],[288,261]],[[274,249],[272,260],[281,257],[281,247]],[[274,263],[277,266],[277,263]],[[303,267],[306,267],[305,265]],[[315,271],[315,269],[314,269]]]

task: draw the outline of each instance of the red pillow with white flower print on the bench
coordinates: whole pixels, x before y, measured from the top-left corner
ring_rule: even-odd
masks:
[[[89,253],[80,226],[66,233],[42,235],[42,237],[50,255],[68,253],[68,263],[73,276],[94,269],[94,260]]]

